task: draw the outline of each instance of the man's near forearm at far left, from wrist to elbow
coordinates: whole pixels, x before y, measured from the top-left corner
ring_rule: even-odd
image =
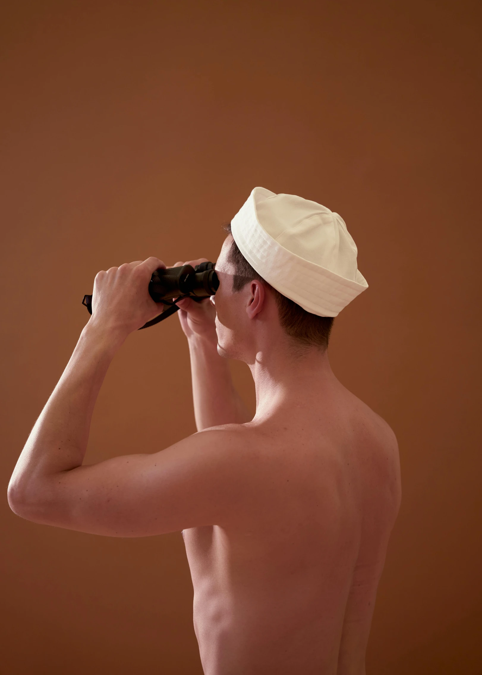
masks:
[[[38,417],[9,485],[9,501],[37,500],[55,475],[82,464],[90,421],[109,364],[124,342],[92,321]]]

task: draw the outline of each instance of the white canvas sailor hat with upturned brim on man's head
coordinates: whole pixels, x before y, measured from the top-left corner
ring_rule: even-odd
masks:
[[[311,314],[336,317],[368,288],[344,219],[317,202],[255,188],[231,232],[257,273]]]

